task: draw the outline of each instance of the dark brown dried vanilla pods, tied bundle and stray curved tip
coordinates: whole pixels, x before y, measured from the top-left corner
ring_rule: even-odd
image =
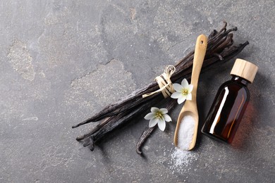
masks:
[[[237,27],[226,30],[227,23],[224,23],[224,27],[221,30],[212,31],[208,37],[207,43],[207,53],[204,58],[204,63],[202,65],[202,71],[211,68],[211,65],[217,63],[223,63],[234,56],[236,56],[240,51],[242,51],[248,42],[243,44],[233,45],[233,31],[237,30]],[[190,52],[187,56],[182,58],[175,66],[176,72],[171,76],[172,82],[177,82],[183,78],[190,78],[193,67],[193,55],[194,51]],[[140,115],[144,111],[149,111],[149,108],[164,99],[161,92],[142,98],[143,94],[148,94],[159,89],[157,82],[151,82],[145,87],[135,90],[133,93],[125,96],[123,99],[111,103],[106,106],[102,111],[92,116],[91,118],[80,122],[78,125],[73,126],[79,127],[80,125],[85,125],[89,122],[100,121],[97,126],[92,128],[87,134],[83,134],[77,137],[77,141],[84,141],[83,146],[90,146],[91,151],[94,150],[94,145],[99,142],[100,139],[106,137],[106,134],[112,130],[120,127],[127,122],[131,122],[134,117]],[[170,111],[171,108],[176,104],[176,100],[167,99],[166,108]],[[157,125],[156,125],[157,126]],[[156,127],[155,126],[155,127]],[[142,133],[140,140],[136,146],[137,153],[142,153],[140,151],[140,146],[147,139],[149,134],[154,130],[155,127],[146,127],[145,131]]]

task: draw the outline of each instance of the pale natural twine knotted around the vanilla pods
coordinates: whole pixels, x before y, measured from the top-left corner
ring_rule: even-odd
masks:
[[[164,95],[164,98],[167,98],[170,96],[175,90],[173,89],[173,83],[171,82],[170,78],[173,75],[173,73],[176,71],[176,68],[173,65],[166,65],[164,72],[154,78],[154,80],[159,84],[159,89],[142,95],[142,98],[145,98],[147,96],[151,96],[153,94],[157,94],[161,92]]]

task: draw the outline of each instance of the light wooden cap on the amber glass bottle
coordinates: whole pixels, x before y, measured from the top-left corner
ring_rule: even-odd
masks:
[[[258,70],[258,67],[253,63],[237,58],[230,74],[243,77],[245,80],[248,80],[249,82],[252,83],[257,73],[257,70]]]

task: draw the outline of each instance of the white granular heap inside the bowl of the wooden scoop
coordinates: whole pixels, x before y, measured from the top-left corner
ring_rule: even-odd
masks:
[[[191,115],[185,115],[178,129],[178,148],[188,150],[193,139],[195,119]]]

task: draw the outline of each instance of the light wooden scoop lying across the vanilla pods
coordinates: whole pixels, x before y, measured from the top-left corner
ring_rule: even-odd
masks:
[[[182,123],[183,117],[188,116],[187,118],[185,118],[186,120],[185,119],[183,120],[183,122],[195,122],[195,124],[191,125],[191,126],[194,126],[193,137],[190,139],[190,144],[189,145],[187,144],[187,148],[183,150],[193,149],[197,139],[197,126],[199,124],[199,115],[197,113],[197,82],[199,80],[200,70],[202,68],[202,63],[204,61],[206,49],[207,49],[207,37],[204,34],[201,34],[199,37],[197,37],[195,53],[194,53],[193,70],[192,70],[192,76],[191,76],[191,84],[193,84],[193,90],[191,92],[192,100],[185,101],[185,104],[181,109],[181,113],[178,115],[178,122],[176,125],[175,136],[173,139],[175,146],[182,149],[180,146],[178,146],[178,135],[181,135],[178,131],[181,125],[186,125]],[[187,124],[187,125],[190,125],[190,124]],[[187,143],[189,143],[189,140],[187,141]]]

